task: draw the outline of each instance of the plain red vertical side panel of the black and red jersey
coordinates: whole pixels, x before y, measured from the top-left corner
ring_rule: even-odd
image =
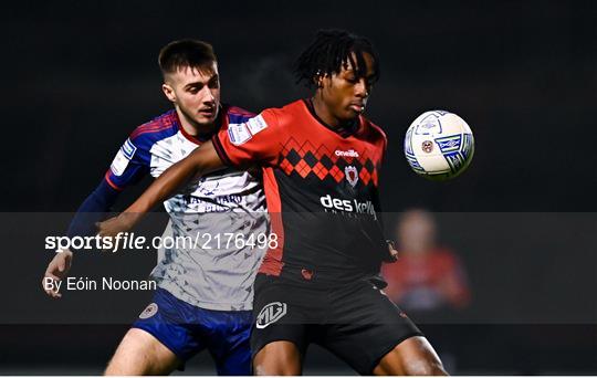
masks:
[[[272,224],[272,233],[277,235],[276,248],[270,248],[259,269],[259,273],[280,275],[284,263],[284,225],[282,223],[282,202],[280,201],[280,191],[273,168],[263,168],[263,190],[265,191],[265,202]]]

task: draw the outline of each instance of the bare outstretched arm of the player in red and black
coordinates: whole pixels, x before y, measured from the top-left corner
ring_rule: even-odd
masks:
[[[224,168],[213,144],[207,141],[185,159],[166,169],[147,190],[118,217],[97,223],[101,237],[116,237],[130,230],[146,212],[172,197],[178,189],[206,174]]]

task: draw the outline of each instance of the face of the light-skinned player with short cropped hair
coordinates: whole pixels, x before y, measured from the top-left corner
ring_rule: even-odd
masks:
[[[164,93],[190,123],[198,126],[213,124],[220,107],[217,63],[201,71],[181,67],[169,74],[164,84]]]

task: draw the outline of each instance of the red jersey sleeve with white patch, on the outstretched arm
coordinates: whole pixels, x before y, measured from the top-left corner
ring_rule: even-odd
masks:
[[[265,109],[244,123],[230,124],[213,136],[213,146],[222,161],[230,166],[276,162],[281,139],[286,130],[280,125],[275,109]]]

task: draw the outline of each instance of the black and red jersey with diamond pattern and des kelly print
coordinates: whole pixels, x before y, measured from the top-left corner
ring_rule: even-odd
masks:
[[[365,117],[333,130],[308,101],[269,108],[213,137],[229,165],[263,167],[276,248],[260,273],[342,283],[379,272],[388,250],[378,217],[387,139]]]

